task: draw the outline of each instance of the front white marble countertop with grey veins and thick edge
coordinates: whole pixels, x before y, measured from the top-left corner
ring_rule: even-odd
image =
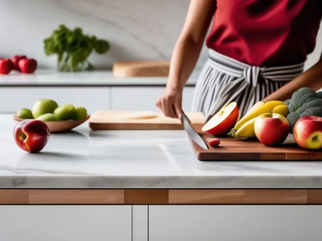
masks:
[[[0,115],[0,188],[322,188],[322,162],[198,161],[182,130],[52,133],[21,150]]]

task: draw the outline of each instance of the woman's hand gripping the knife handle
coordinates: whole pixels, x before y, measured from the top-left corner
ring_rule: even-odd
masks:
[[[166,88],[165,93],[156,101],[156,106],[171,118],[179,118],[182,111],[182,90],[176,88]]]

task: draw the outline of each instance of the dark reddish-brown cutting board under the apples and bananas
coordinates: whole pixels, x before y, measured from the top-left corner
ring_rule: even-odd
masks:
[[[207,138],[214,138],[206,133],[201,134],[206,141]],[[322,160],[322,151],[308,151],[295,144],[292,135],[280,147],[268,147],[261,144],[258,140],[236,139],[232,137],[221,137],[218,147],[209,146],[205,150],[190,140],[194,153],[200,161],[212,160]]]

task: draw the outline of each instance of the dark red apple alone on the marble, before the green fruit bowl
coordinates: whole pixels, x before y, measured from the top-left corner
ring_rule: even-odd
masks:
[[[49,140],[49,128],[40,120],[23,120],[14,127],[14,141],[24,151],[40,152]]]

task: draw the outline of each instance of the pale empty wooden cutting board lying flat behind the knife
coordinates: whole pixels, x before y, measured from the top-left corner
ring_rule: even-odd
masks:
[[[196,131],[201,131],[205,117],[201,112],[185,112]],[[146,119],[141,119],[145,117]],[[91,129],[104,130],[181,130],[179,119],[165,117],[161,112],[94,112],[89,119]]]

